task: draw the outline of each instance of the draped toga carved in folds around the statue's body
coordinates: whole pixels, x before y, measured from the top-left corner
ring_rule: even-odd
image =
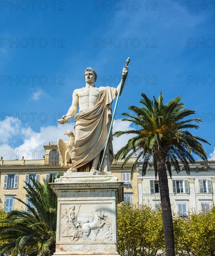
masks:
[[[78,172],[90,171],[94,158],[103,153],[111,121],[111,116],[108,116],[108,109],[111,109],[110,104],[116,94],[116,88],[106,87],[101,94],[100,101],[90,111],[80,112],[74,117],[72,168],[77,168]],[[109,165],[113,162],[114,156],[112,140],[111,135],[106,151]]]

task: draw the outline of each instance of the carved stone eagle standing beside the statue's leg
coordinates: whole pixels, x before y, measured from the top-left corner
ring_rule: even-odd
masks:
[[[63,162],[60,166],[62,168],[69,168],[71,167],[71,154],[73,150],[74,145],[74,133],[72,131],[66,131],[63,135],[68,135],[67,141],[63,141],[61,139],[58,139],[57,145],[58,150],[60,151],[60,155],[63,158]]]

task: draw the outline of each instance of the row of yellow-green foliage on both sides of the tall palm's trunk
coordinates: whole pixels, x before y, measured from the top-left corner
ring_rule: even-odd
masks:
[[[147,205],[134,208],[128,202],[118,205],[118,247],[121,256],[165,254],[161,209]],[[173,214],[176,256],[215,256],[215,206],[188,218]]]

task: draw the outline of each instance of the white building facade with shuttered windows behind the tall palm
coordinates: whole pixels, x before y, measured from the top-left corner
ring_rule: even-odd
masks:
[[[188,211],[197,213],[209,209],[215,203],[215,161],[198,161],[190,165],[187,175],[181,166],[179,174],[172,170],[172,179],[168,175],[169,197],[172,210],[180,216]],[[161,203],[158,177],[155,179],[153,165],[149,164],[147,174],[142,177],[141,163],[137,167],[138,202],[157,207]]]

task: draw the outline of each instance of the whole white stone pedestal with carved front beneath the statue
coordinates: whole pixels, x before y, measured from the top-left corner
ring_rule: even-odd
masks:
[[[123,183],[111,173],[65,173],[50,183],[58,197],[54,256],[114,255],[116,205]]]

